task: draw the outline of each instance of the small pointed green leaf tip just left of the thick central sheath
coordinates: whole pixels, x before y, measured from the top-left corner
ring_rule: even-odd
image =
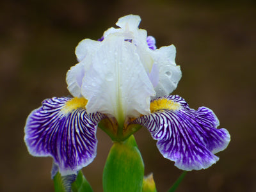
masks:
[[[92,187],[90,186],[89,182],[85,179],[82,171],[80,170],[77,174],[76,181],[72,184],[72,191],[73,192],[93,192]]]

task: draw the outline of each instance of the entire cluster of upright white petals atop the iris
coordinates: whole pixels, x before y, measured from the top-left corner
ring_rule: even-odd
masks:
[[[138,28],[140,20],[138,15],[121,17],[116,22],[120,28],[109,28],[102,41],[85,39],[77,46],[80,63],[68,70],[68,90],[88,99],[89,113],[122,119],[146,115],[150,98],[177,87],[181,72],[175,47],[150,49],[147,31]]]

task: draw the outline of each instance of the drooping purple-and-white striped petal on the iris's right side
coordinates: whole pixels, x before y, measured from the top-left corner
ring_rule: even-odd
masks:
[[[147,127],[161,154],[175,162],[181,170],[200,170],[218,161],[216,152],[224,150],[230,134],[226,129],[217,129],[218,118],[211,109],[190,109],[178,95],[168,95],[160,100],[163,106],[151,115],[141,116],[133,123]],[[163,101],[161,101],[163,100]]]

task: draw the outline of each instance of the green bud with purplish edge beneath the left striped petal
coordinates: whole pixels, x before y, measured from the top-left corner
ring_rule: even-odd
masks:
[[[53,178],[55,192],[71,191],[71,184],[74,180],[76,180],[76,175],[66,175],[62,177],[58,172]]]

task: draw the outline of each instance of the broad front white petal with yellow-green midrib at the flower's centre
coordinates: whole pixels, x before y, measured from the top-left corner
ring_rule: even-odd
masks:
[[[108,35],[101,43],[83,78],[82,95],[88,99],[88,113],[98,111],[118,121],[149,114],[155,91],[136,45],[122,35]]]

